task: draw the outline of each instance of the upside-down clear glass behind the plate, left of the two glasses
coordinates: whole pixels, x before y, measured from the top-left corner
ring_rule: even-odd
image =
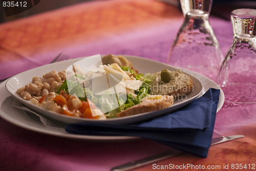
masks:
[[[180,0],[180,3],[184,21],[174,39],[167,63],[216,81],[223,55],[209,23],[212,0]]]

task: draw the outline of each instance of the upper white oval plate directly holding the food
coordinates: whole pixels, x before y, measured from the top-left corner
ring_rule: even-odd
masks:
[[[156,62],[153,60],[149,60],[146,58],[141,58],[141,57],[135,57],[135,56],[125,56],[127,59],[129,59],[133,65],[134,68],[138,70],[139,73],[156,73],[159,71],[162,71],[163,69],[168,69],[170,71],[176,71],[177,68],[174,68],[169,65],[165,65],[164,63]],[[6,90],[18,101],[23,103],[24,105],[28,106],[30,109],[36,111],[38,114],[47,116],[49,118],[64,122],[64,123],[75,123],[75,122],[97,122],[97,123],[113,123],[113,124],[129,124],[129,123],[135,123],[135,122],[140,122],[146,119],[151,119],[157,116],[161,116],[163,114],[166,114],[168,112],[175,111],[182,106],[190,103],[194,99],[196,99],[203,91],[203,84],[202,82],[190,75],[190,78],[193,80],[194,84],[194,90],[186,94],[186,96],[183,96],[180,99],[176,99],[174,104],[170,106],[169,108],[166,108],[164,110],[159,110],[155,112],[147,112],[147,113],[142,113],[142,114],[137,114],[137,115],[132,115],[132,116],[126,116],[126,117],[121,117],[121,118],[110,118],[106,120],[97,120],[97,119],[86,119],[86,118],[77,118],[77,117],[72,117],[72,116],[67,116],[67,115],[61,115],[52,111],[48,111],[46,109],[43,109],[37,105],[32,104],[28,100],[24,100],[19,94],[16,93],[16,90],[24,87],[26,84],[30,83],[32,78],[34,76],[41,77],[43,74],[46,74],[52,70],[56,71],[63,71],[66,70],[72,63],[81,60],[83,58],[77,58],[77,59],[72,59],[72,60],[66,60],[66,61],[61,61],[61,62],[56,62],[56,63],[51,63],[49,65],[45,65],[42,67],[38,67],[20,74],[17,74],[13,77],[11,77],[7,82],[6,82]],[[93,58],[90,58],[93,60]]]

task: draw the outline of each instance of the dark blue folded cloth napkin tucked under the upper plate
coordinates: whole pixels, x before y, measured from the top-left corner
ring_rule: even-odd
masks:
[[[209,89],[182,109],[135,124],[72,123],[66,131],[84,135],[139,136],[207,157],[220,90]]]

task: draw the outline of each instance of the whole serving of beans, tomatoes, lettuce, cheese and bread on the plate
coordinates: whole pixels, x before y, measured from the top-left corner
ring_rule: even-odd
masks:
[[[194,89],[180,70],[141,74],[121,55],[100,57],[97,65],[88,61],[33,77],[16,93],[48,111],[102,120],[166,109]]]

